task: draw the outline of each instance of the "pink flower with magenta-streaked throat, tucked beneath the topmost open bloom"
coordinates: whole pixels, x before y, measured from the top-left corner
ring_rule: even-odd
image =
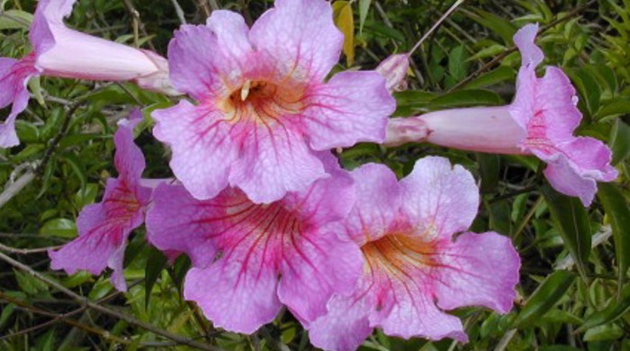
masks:
[[[361,272],[356,244],[327,229],[354,202],[350,177],[320,179],[301,193],[257,204],[227,188],[197,200],[181,185],[160,185],[147,216],[148,240],[193,261],[184,298],[215,326],[252,333],[285,304],[308,324],[332,293],[351,290]]]

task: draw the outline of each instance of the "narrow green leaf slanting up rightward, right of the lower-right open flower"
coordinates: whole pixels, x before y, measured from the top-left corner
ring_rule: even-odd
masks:
[[[525,327],[537,321],[560,301],[571,287],[575,275],[567,271],[556,271],[548,275],[545,281],[527,299],[527,303],[513,322],[514,328]]]

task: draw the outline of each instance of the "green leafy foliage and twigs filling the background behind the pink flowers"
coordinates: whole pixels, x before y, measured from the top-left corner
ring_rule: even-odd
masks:
[[[29,50],[34,2],[0,0],[0,56]],[[439,0],[336,1],[347,35],[339,69],[373,68],[410,49],[452,5]],[[79,1],[73,27],[166,54],[182,21],[203,23],[217,6],[256,19],[269,1]],[[134,15],[139,14],[139,16]],[[376,332],[373,350],[630,350],[630,0],[469,0],[413,56],[409,90],[396,94],[398,115],[455,106],[509,103],[520,58],[512,35],[541,23],[545,65],[563,67],[580,95],[579,134],[608,142],[620,171],[600,184],[590,208],[554,193],[533,157],[465,153],[429,145],[359,145],[340,157],[352,168],[380,162],[399,175],[425,155],[442,155],[481,180],[482,210],[475,231],[509,236],[523,260],[518,301],[508,315],[470,308],[455,313],[471,341],[401,340]],[[352,40],[352,41],[350,41]],[[148,113],[173,102],[135,85],[41,78],[18,121],[20,147],[0,149],[0,349],[79,350],[144,347],[308,350],[306,333],[290,313],[252,336],[213,329],[181,298],[189,266],[174,266],[136,230],[126,252],[129,293],[117,293],[108,274],[67,276],[49,270],[45,247],[76,236],[76,215],[97,201],[112,165],[115,121],[139,106],[147,118],[136,139],[146,177],[170,176],[165,148],[152,139]],[[0,119],[8,112],[0,111]],[[115,174],[114,174],[115,175]],[[3,189],[0,189],[2,191]],[[44,247],[44,248],[42,248]],[[148,325],[147,325],[148,324]]]

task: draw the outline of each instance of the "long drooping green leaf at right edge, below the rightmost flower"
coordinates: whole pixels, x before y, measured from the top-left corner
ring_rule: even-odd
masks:
[[[630,208],[617,184],[599,183],[598,197],[610,220],[615,240],[615,256],[619,270],[619,286],[626,280],[626,272],[630,267],[630,240],[627,234],[630,229]]]

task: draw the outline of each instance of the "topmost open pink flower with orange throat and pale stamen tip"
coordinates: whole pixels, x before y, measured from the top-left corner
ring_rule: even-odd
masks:
[[[329,176],[317,150],[383,141],[395,103],[383,76],[341,72],[343,36],[324,0],[277,0],[251,29],[215,11],[168,48],[171,80],[197,104],[153,113],[170,166],[198,199],[226,186],[274,202]]]

